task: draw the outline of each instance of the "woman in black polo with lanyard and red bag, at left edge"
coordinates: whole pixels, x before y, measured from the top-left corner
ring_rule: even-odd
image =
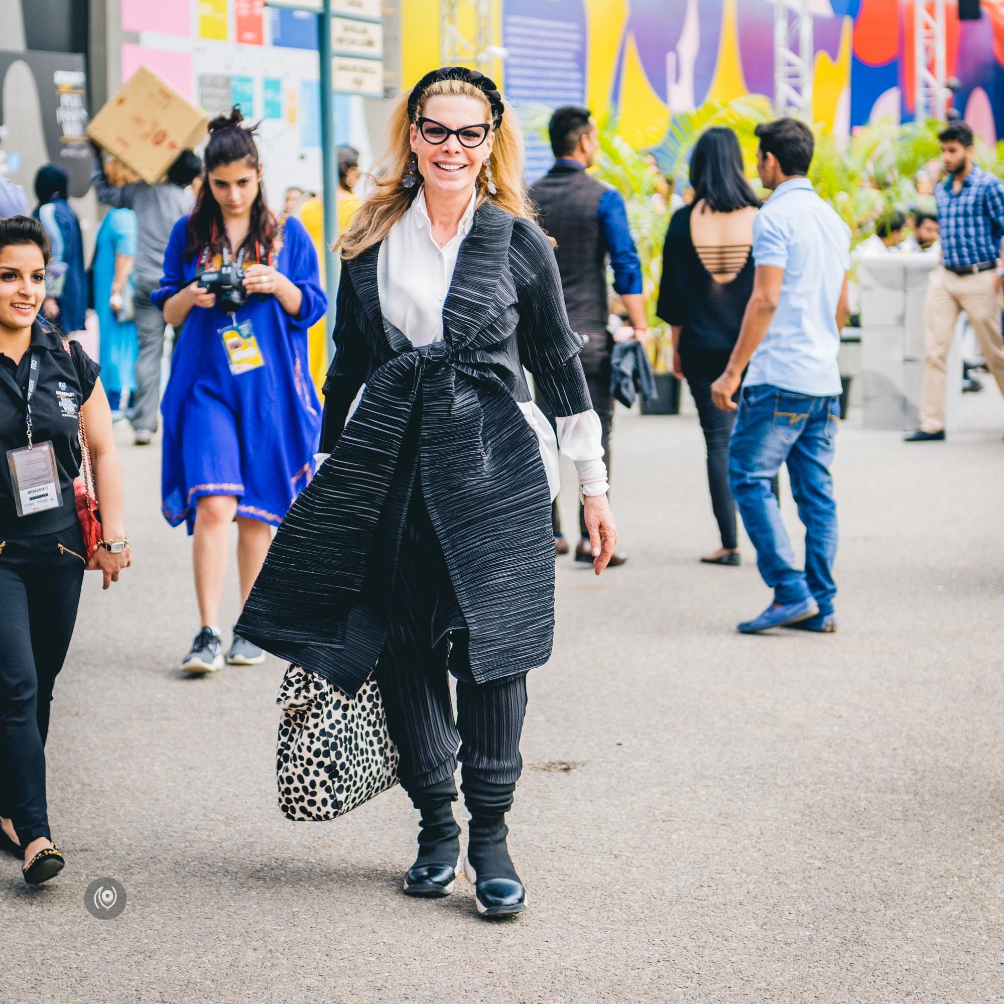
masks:
[[[37,220],[0,220],[0,844],[32,886],[64,863],[49,833],[44,744],[84,568],[107,588],[130,564],[100,367],[38,320],[49,254]],[[89,556],[73,496],[80,413],[105,538]]]

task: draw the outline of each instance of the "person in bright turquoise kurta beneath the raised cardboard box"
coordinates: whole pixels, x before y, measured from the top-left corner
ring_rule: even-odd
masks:
[[[133,300],[133,259],[136,257],[136,213],[110,209],[94,242],[94,312],[100,331],[98,358],[112,418],[118,417],[122,395],[136,387],[136,356],[140,343],[130,310],[120,320],[122,304]]]

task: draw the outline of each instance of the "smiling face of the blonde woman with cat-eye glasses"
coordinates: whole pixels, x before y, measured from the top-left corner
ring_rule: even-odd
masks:
[[[466,94],[434,94],[426,101],[422,115],[452,130],[480,126],[490,118],[487,102]],[[428,127],[426,132],[430,132]],[[494,140],[489,133],[478,147],[465,147],[456,136],[448,136],[442,143],[430,143],[414,122],[411,128],[419,174],[429,191],[438,195],[470,192],[492,152]]]

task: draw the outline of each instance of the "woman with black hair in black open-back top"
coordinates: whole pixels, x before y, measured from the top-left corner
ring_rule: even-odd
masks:
[[[657,313],[673,327],[673,371],[686,378],[708,451],[708,484],[722,546],[701,558],[740,563],[736,503],[729,489],[729,437],[735,412],[711,400],[729,361],[753,292],[753,220],[760,202],[743,171],[735,133],[708,130],[691,156],[694,202],[670,220]]]

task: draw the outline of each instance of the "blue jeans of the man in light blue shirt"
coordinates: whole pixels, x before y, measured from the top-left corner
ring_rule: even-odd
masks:
[[[769,384],[743,388],[729,441],[729,484],[757,567],[778,603],[814,596],[833,612],[836,502],[829,465],[840,418],[839,398],[814,398]],[[795,567],[771,479],[787,463],[798,518],[805,524],[805,570]]]

